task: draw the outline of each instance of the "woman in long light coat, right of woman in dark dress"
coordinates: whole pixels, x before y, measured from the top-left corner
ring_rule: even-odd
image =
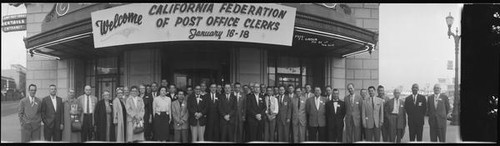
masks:
[[[127,141],[127,110],[125,109],[123,89],[116,89],[116,98],[113,99],[113,123],[115,124],[116,142]]]

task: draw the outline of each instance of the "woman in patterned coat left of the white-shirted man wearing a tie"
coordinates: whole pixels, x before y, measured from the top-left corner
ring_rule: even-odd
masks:
[[[64,102],[64,130],[63,141],[66,142],[80,142],[80,132],[73,132],[71,130],[71,123],[74,119],[80,119],[81,108],[78,107],[78,99],[75,97],[75,90],[70,89],[68,98]]]

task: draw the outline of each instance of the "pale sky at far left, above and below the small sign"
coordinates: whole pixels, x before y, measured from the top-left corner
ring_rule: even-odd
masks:
[[[2,3],[2,22],[3,16],[26,13],[26,7],[9,6]],[[11,64],[21,64],[26,67],[26,47],[23,38],[26,37],[26,31],[2,31],[2,69],[10,69]]]

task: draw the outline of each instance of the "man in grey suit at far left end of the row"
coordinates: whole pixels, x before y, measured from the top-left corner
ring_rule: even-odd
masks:
[[[35,97],[36,85],[28,86],[29,95],[19,101],[18,116],[21,123],[21,142],[40,140],[42,100]]]

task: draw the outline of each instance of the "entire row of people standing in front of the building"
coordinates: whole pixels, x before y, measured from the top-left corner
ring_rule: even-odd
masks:
[[[65,100],[57,96],[55,85],[50,85],[50,95],[44,98],[35,96],[36,88],[29,85],[28,98],[20,101],[22,142],[40,140],[41,123],[44,140],[67,142],[351,143],[380,141],[381,134],[382,141],[401,142],[407,123],[410,141],[422,141],[425,115],[431,141],[444,142],[451,114],[448,97],[440,93],[438,84],[428,99],[418,94],[414,84],[412,95],[404,100],[398,89],[394,98],[388,98],[381,85],[356,95],[352,83],[343,100],[338,89],[311,85],[201,83],[184,91],[162,80],[160,85],[118,87],[116,97],[103,91],[99,101],[88,85],[78,98],[69,90]]]

